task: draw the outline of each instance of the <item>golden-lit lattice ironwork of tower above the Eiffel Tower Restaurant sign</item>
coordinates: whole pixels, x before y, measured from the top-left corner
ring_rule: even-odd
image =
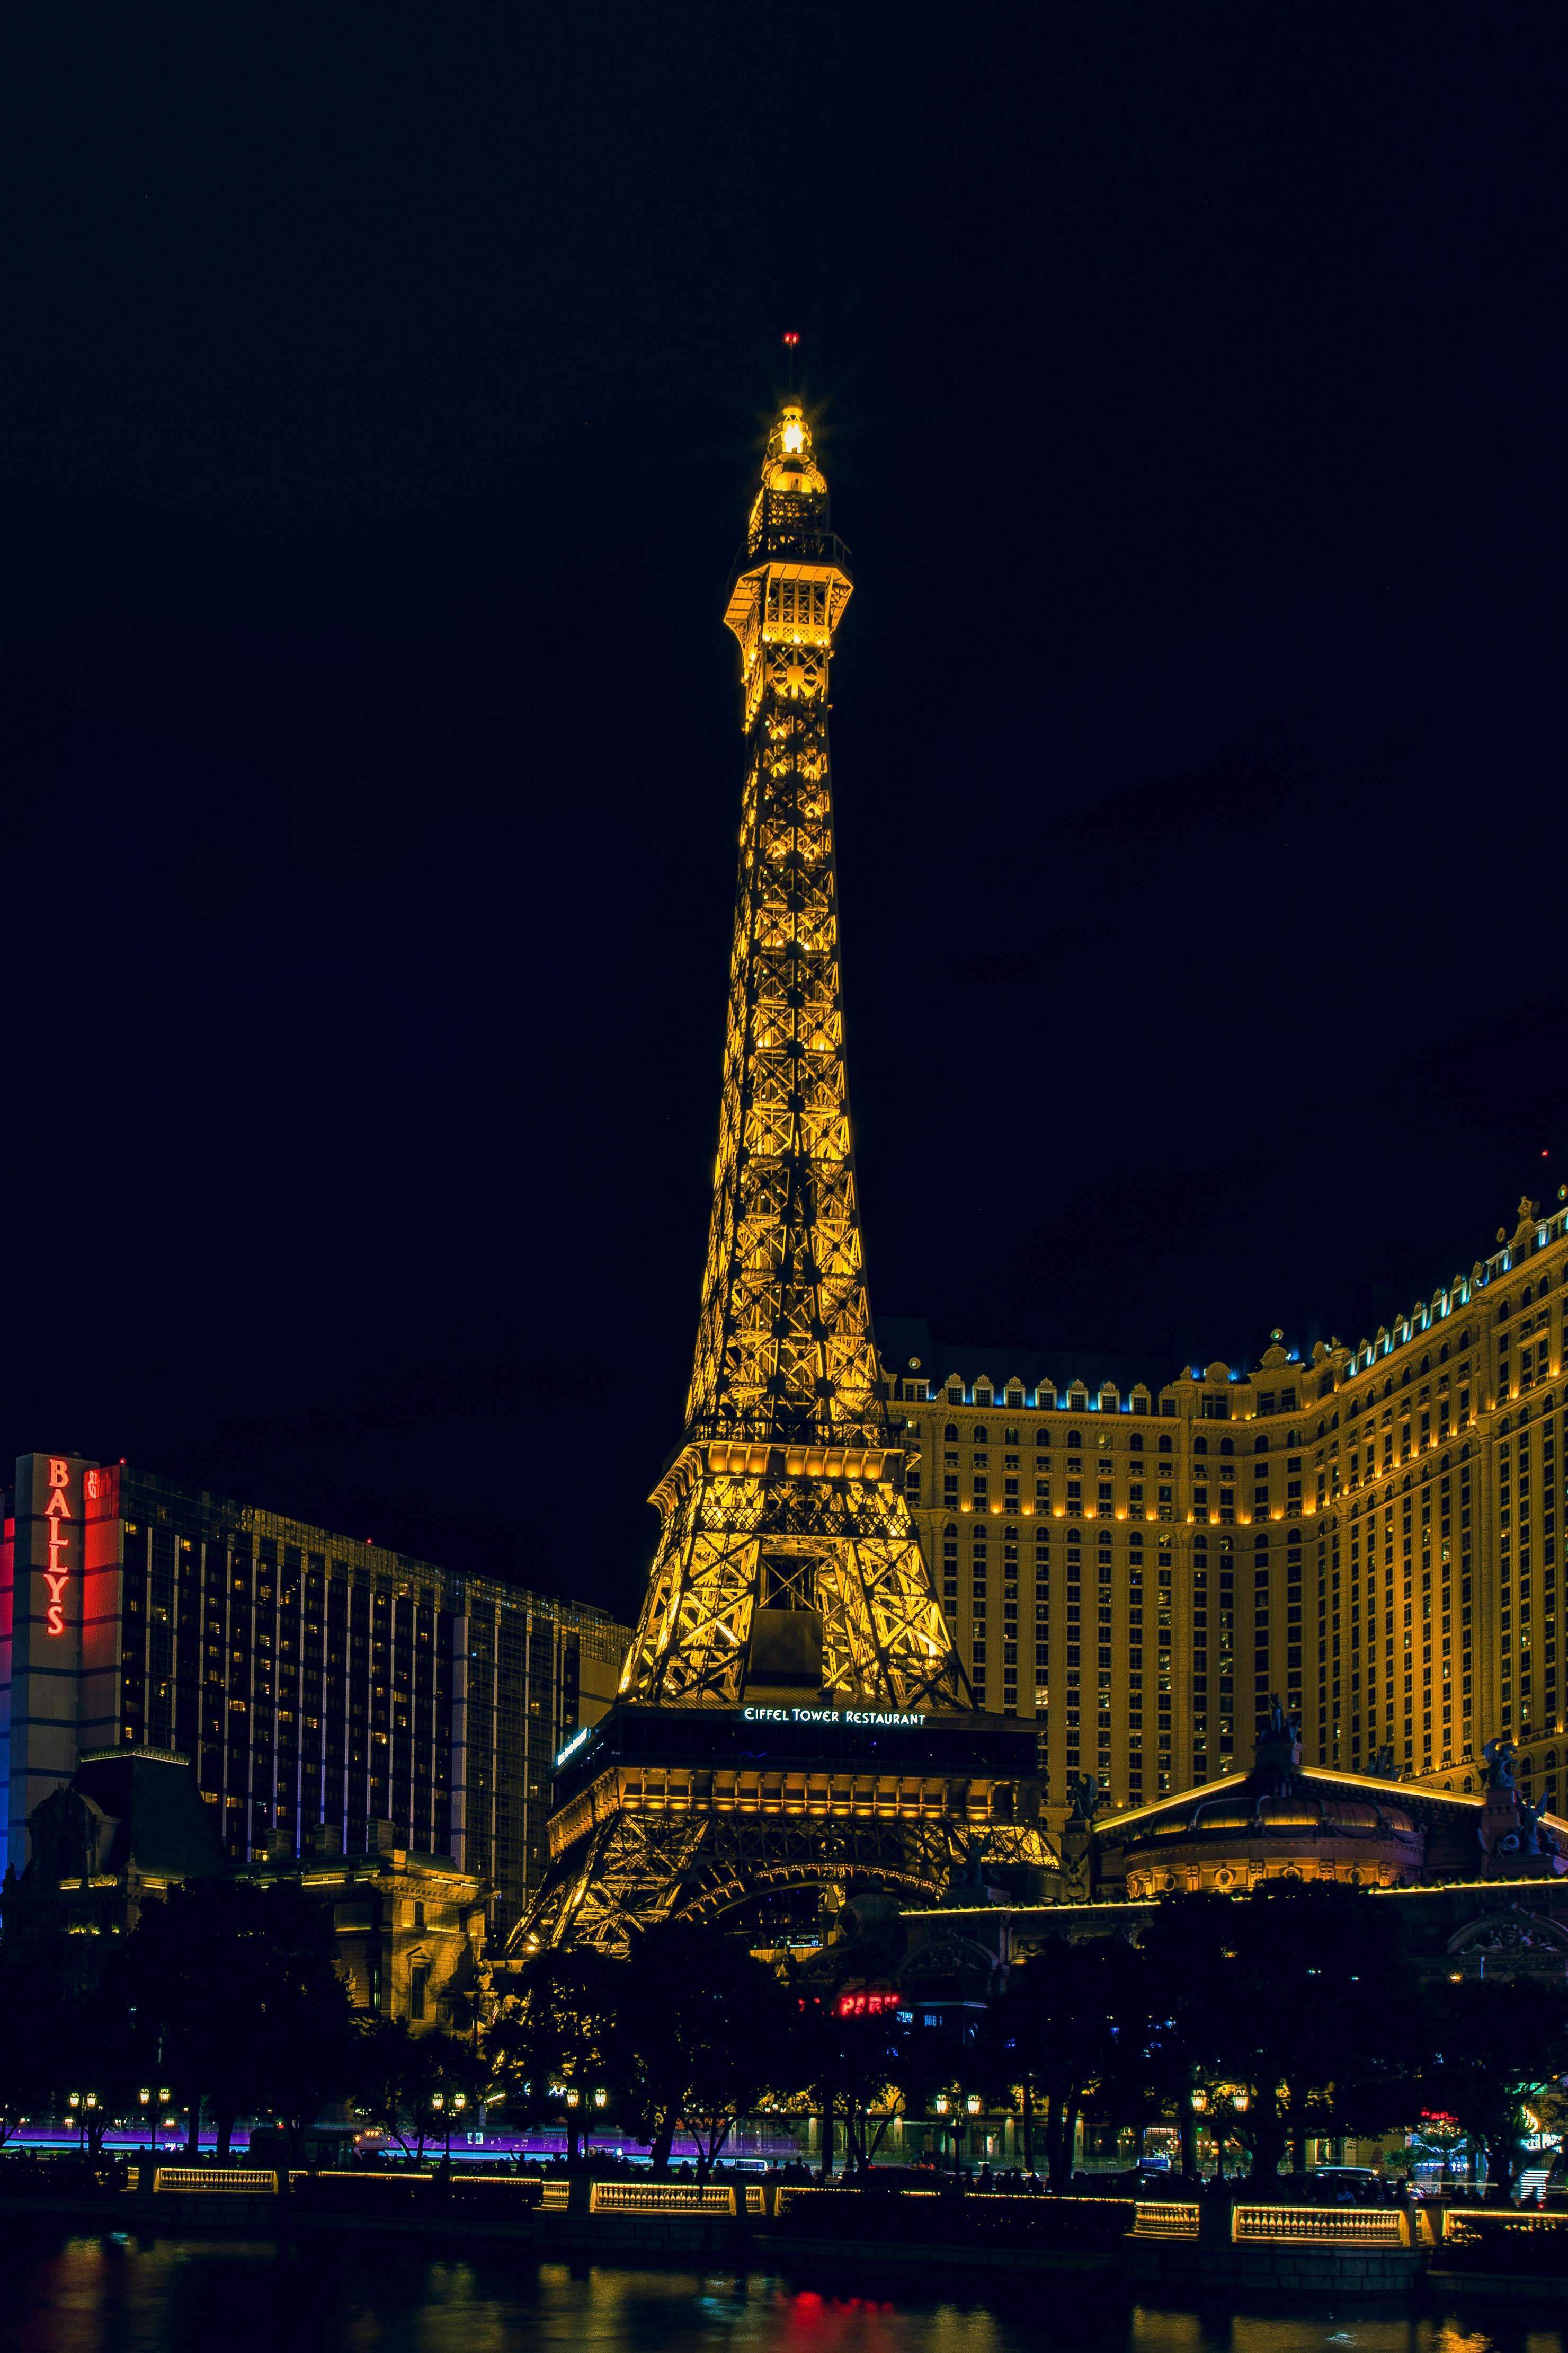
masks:
[[[790,400],[724,614],[748,741],[741,878],[686,1435],[654,1494],[663,1534],[621,1682],[649,1706],[736,1706],[783,1685],[858,1708],[971,1706],[905,1506],[865,1299],[827,760],[849,595],[849,548]]]

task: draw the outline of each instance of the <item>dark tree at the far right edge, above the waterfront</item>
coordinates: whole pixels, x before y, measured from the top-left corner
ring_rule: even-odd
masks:
[[[1507,2198],[1526,2111],[1552,2101],[1568,2068],[1568,1993],[1528,1981],[1439,1984],[1427,1991],[1420,2106],[1453,2118],[1486,2148],[1488,2181]]]

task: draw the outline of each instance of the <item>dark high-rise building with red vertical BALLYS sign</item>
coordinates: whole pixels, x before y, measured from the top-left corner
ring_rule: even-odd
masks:
[[[127,1464],[24,1454],[0,1548],[7,1852],[85,1758],[193,1758],[230,1861],[390,1826],[494,1887],[543,1878],[550,1769],[611,1694],[602,1609]],[[374,1838],[371,1838],[374,1842]]]

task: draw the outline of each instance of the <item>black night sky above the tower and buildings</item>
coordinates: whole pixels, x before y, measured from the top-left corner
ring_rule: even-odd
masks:
[[[1554,1198],[1561,21],[12,24],[2,1449],[635,1609],[783,329],[875,1306],[1239,1360]]]

